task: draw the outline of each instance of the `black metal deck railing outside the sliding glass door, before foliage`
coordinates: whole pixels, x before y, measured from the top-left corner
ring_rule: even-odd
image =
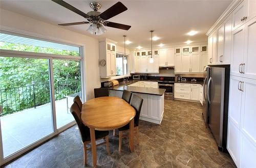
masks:
[[[81,92],[80,79],[54,83],[55,100],[63,99],[67,95],[77,92]],[[51,102],[50,93],[49,82],[1,89],[0,106],[2,107],[2,114],[0,111],[0,117],[23,109],[36,108],[36,106],[47,104]]]

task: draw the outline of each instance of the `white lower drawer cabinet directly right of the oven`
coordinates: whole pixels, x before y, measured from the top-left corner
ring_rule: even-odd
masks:
[[[199,101],[199,86],[194,83],[174,83],[174,98]]]

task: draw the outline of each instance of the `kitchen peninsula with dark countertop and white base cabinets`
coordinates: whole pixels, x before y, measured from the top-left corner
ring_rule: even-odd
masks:
[[[110,96],[121,98],[123,90],[133,92],[143,98],[140,120],[161,124],[164,114],[165,89],[129,86],[134,82],[136,81],[119,83],[117,86],[110,87]]]

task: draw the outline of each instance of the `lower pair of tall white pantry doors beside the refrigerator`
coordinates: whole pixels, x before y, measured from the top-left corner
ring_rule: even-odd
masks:
[[[256,80],[230,75],[227,149],[238,167],[256,167]]]

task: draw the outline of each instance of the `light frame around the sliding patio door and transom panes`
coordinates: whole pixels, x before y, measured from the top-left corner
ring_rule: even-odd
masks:
[[[53,39],[50,38],[42,38],[34,35],[28,35],[28,34],[23,34],[23,33],[16,33],[16,32],[10,32],[6,30],[0,30],[0,33],[4,34],[9,34],[9,35],[14,35],[14,36],[21,36],[21,37],[26,37],[26,38],[31,38],[31,39],[36,39],[36,40],[42,40],[42,41],[49,41],[53,43],[59,43],[59,44],[66,44],[66,45],[72,45],[79,47],[79,54],[80,57],[77,56],[72,56],[72,55],[60,55],[60,54],[50,54],[50,53],[40,53],[40,52],[28,52],[28,51],[17,51],[17,50],[7,50],[7,49],[0,49],[0,55],[1,57],[18,57],[18,58],[31,58],[31,59],[49,59],[49,65],[50,65],[50,78],[51,78],[51,87],[54,87],[54,80],[53,80],[53,60],[73,60],[73,61],[80,61],[80,71],[81,71],[81,92],[82,92],[82,101],[86,101],[86,75],[85,75],[85,52],[84,52],[84,44],[74,44],[73,42],[68,42],[68,41],[59,41],[59,39]],[[54,89],[51,90],[51,102],[52,106],[55,107],[55,97],[54,97]],[[68,128],[74,126],[76,124],[76,121],[74,120],[73,122],[62,126],[57,129],[56,126],[56,109],[52,107],[52,114],[53,114],[53,128],[54,131],[53,133],[39,139],[38,141],[32,143],[31,145],[15,152],[14,154],[7,156],[4,158],[3,154],[3,142],[2,142],[2,131],[0,127],[0,147],[2,148],[0,150],[0,166],[9,162],[10,160],[17,158],[18,156],[22,155],[23,153],[35,148],[36,146],[48,141],[50,138],[56,136],[57,134],[67,130]],[[1,126],[1,120],[0,120],[0,126]]]

